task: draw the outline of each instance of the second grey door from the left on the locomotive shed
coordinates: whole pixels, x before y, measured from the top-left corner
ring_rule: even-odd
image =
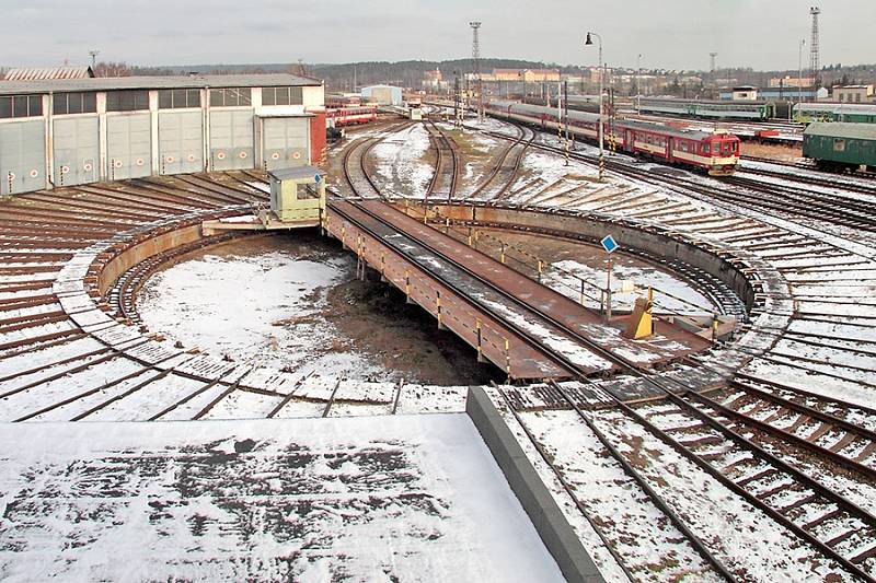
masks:
[[[54,121],[55,185],[94,183],[100,173],[97,117],[60,117]]]

